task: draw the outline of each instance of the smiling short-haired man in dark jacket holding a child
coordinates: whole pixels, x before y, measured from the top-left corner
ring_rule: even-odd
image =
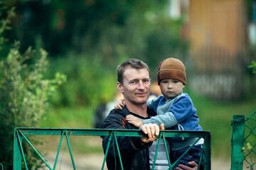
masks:
[[[146,101],[150,93],[149,67],[142,61],[131,59],[117,67],[117,89],[123,94],[126,106],[122,110],[112,110],[103,120],[104,129],[137,129],[125,120],[126,115],[132,114],[138,118],[150,118],[155,113],[146,110]],[[119,150],[124,169],[148,170],[149,147],[159,135],[159,126],[156,124],[142,125],[140,128],[148,137],[117,137]],[[164,130],[164,125],[160,125]],[[102,137],[104,152],[107,149],[109,137]],[[107,168],[121,169],[117,147],[112,140],[107,153]],[[182,166],[180,166],[183,169]],[[188,167],[186,167],[188,168]]]

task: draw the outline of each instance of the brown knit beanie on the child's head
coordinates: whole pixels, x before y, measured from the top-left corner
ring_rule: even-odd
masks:
[[[186,68],[181,60],[168,58],[159,63],[157,73],[158,84],[163,79],[177,79],[186,85]]]

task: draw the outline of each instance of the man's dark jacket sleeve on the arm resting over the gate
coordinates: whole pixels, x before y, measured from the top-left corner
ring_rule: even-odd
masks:
[[[105,118],[105,120],[102,123],[101,128],[103,129],[125,129],[122,127],[122,118],[123,115],[120,115],[118,113],[110,113],[110,115]],[[102,147],[104,150],[104,153],[107,150],[107,144],[109,142],[108,136],[102,137]],[[117,137],[117,142],[119,146],[119,151],[122,158],[125,158],[127,156],[130,156],[131,154],[136,154],[137,152],[141,151],[142,149],[146,147],[150,147],[152,142],[149,142],[148,144],[142,143],[140,137]],[[110,148],[107,153],[108,157],[119,157],[118,151],[117,151],[117,145],[114,142],[114,137],[112,137],[112,140],[110,142]]]

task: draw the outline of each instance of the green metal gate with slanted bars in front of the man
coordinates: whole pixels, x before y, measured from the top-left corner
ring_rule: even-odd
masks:
[[[58,147],[58,152],[55,157],[55,164],[53,167],[50,167],[50,165],[46,162],[46,159],[43,159],[42,155],[38,152],[38,150],[31,144],[31,142],[28,140],[28,135],[60,135],[60,143]],[[115,144],[118,148],[117,143],[117,137],[118,136],[131,136],[131,137],[142,137],[145,136],[142,130],[101,130],[101,129],[65,129],[65,128],[16,128],[14,131],[14,170],[20,170],[21,169],[21,162],[23,160],[23,165],[26,169],[28,169],[28,166],[26,164],[26,157],[23,152],[23,146],[22,142],[23,140],[30,145],[34,152],[38,154],[38,156],[42,159],[42,161],[46,164],[48,169],[52,170],[56,168],[56,164],[58,162],[58,155],[60,153],[60,147],[63,141],[63,137],[65,136],[67,143],[68,143],[68,149],[70,152],[70,158],[72,160],[73,169],[75,169],[75,160],[73,159],[73,153],[70,146],[69,137],[72,135],[89,135],[89,136],[110,136],[111,139],[114,139]],[[203,145],[203,151],[204,156],[201,155],[201,158],[204,157],[204,165],[205,169],[210,169],[210,132],[209,131],[176,131],[176,130],[160,130],[159,139],[163,139],[164,142],[166,142],[165,137],[199,137],[204,139],[204,145]],[[197,142],[197,141],[196,141]],[[193,143],[193,145],[196,144],[196,142]],[[191,147],[193,147],[193,145]],[[104,169],[106,158],[107,158],[107,152],[110,147],[110,142],[108,143],[108,147],[106,149],[105,159],[102,163],[102,169]],[[190,147],[190,148],[191,148]],[[189,149],[190,149],[189,148]],[[158,147],[157,147],[158,150]],[[167,149],[166,149],[167,150]],[[188,150],[186,151],[188,152]],[[184,154],[186,154],[186,152]],[[157,151],[156,151],[157,154]],[[168,152],[166,152],[168,155]],[[183,155],[181,156],[183,157]],[[119,159],[121,161],[120,152],[119,152]],[[156,157],[155,157],[156,159]],[[180,158],[179,158],[180,159]],[[178,162],[178,160],[176,161]],[[154,160],[155,164],[155,160]],[[153,164],[153,167],[154,167]],[[169,160],[170,164],[170,160]],[[174,163],[175,164],[175,163]],[[170,167],[173,166],[170,164]],[[199,169],[199,168],[198,168]]]

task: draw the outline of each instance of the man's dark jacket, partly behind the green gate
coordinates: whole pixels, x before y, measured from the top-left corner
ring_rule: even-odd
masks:
[[[128,111],[125,106],[122,110],[112,110],[107,118],[103,120],[101,128],[103,129],[138,129],[134,125],[125,121],[126,115],[135,115],[138,118],[142,118],[137,114]],[[152,115],[149,113],[149,116]],[[142,118],[144,119],[144,118]],[[107,142],[109,137],[102,137],[102,147],[104,153],[107,149]],[[124,169],[139,169],[149,170],[149,149],[152,142],[147,145],[143,145],[140,137],[117,137],[119,151],[122,157],[122,165]],[[110,149],[107,153],[107,169],[121,169],[119,162],[119,155],[117,147],[114,145],[114,140],[110,143]]]

